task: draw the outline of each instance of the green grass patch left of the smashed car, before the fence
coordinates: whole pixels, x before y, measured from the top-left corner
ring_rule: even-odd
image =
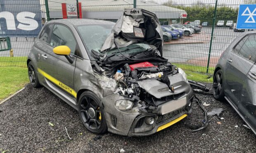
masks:
[[[0,101],[12,95],[28,83],[25,67],[0,67]]]

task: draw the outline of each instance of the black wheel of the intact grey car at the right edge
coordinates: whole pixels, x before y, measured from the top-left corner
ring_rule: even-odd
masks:
[[[223,73],[221,70],[218,70],[213,76],[213,97],[219,101],[223,101],[225,99]]]

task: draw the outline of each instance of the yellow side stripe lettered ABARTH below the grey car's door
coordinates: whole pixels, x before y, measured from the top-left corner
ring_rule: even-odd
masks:
[[[76,92],[75,90],[73,90],[72,88],[70,88],[69,86],[66,86],[64,83],[60,82],[59,80],[55,79],[54,77],[50,76],[49,74],[47,74],[46,72],[44,72],[43,70],[41,70],[40,68],[37,68],[38,72],[40,74],[42,74],[45,78],[47,78],[48,80],[52,81],[53,83],[55,83],[57,86],[59,86],[60,88],[64,89],[66,92],[70,93],[71,95],[73,95],[76,98]]]

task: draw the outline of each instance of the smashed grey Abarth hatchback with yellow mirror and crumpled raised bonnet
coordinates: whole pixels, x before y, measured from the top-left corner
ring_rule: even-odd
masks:
[[[186,74],[162,57],[162,46],[159,20],[143,9],[125,9],[116,23],[48,21],[28,76],[76,109],[92,133],[149,135],[192,112]]]

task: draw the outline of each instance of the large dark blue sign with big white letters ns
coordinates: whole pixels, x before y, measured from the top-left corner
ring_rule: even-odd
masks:
[[[40,0],[0,0],[0,37],[37,36],[41,13]]]

